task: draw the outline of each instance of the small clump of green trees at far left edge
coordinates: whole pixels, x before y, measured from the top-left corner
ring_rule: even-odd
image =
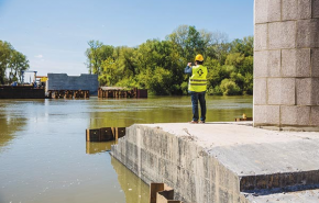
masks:
[[[0,41],[0,83],[21,81],[21,71],[30,67],[26,56],[8,42]],[[9,76],[7,77],[7,72]]]

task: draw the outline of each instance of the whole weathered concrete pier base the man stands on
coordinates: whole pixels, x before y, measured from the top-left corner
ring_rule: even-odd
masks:
[[[287,192],[319,185],[315,132],[267,131],[252,123],[140,124],[127,129],[111,154],[146,183],[174,188],[175,199],[185,202],[319,198],[316,190]]]

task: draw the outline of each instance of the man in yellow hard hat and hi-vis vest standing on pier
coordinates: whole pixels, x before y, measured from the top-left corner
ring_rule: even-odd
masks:
[[[195,57],[195,66],[191,67],[191,63],[187,64],[185,68],[185,74],[191,75],[188,83],[188,92],[191,97],[193,104],[193,121],[189,123],[197,124],[205,123],[206,120],[206,86],[207,86],[207,67],[202,66],[204,57],[202,55],[197,55]],[[198,101],[200,104],[200,121],[198,115]]]

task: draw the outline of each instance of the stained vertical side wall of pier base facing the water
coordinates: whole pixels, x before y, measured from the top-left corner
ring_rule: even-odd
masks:
[[[112,155],[147,184],[164,182],[174,188],[175,200],[248,203],[240,193],[240,177],[194,138],[178,137],[160,127],[132,125],[112,146]]]

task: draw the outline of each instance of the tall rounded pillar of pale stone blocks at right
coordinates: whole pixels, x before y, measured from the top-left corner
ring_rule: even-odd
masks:
[[[254,126],[319,131],[319,0],[255,0]]]

